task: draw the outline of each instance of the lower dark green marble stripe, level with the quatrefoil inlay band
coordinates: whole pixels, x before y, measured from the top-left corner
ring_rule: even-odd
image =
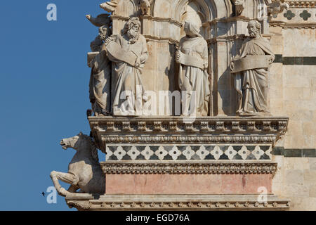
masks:
[[[316,148],[283,148],[275,147],[273,155],[284,155],[284,157],[316,158]]]

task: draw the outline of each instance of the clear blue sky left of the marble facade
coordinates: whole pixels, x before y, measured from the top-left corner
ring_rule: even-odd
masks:
[[[70,210],[64,198],[49,205],[41,193],[74,155],[60,139],[90,132],[86,52],[98,28],[85,15],[105,13],[102,2],[0,1],[0,210]],[[46,20],[50,3],[57,21]]]

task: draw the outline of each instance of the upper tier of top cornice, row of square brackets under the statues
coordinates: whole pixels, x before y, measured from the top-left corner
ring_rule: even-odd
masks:
[[[104,134],[275,134],[287,117],[88,117],[92,131]]]

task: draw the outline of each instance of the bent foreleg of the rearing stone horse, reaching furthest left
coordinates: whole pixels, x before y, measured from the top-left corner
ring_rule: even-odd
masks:
[[[62,173],[62,172],[51,172],[51,179],[53,180],[53,184],[55,185],[56,191],[62,196],[66,196],[68,191],[65,188],[60,186],[58,180],[64,181],[65,183],[77,185],[79,179],[74,174]]]

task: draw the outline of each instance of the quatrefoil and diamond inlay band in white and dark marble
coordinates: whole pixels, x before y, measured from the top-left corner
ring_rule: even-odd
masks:
[[[272,146],[258,145],[107,145],[107,160],[271,160]]]

